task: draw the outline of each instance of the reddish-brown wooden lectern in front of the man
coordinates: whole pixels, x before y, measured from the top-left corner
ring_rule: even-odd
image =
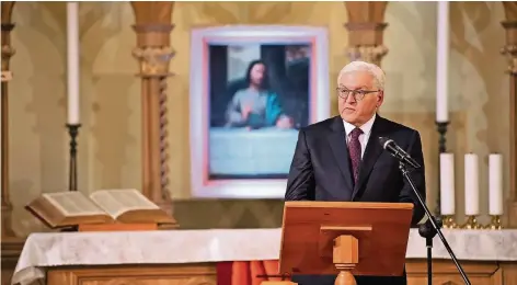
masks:
[[[411,203],[286,202],[279,273],[402,276],[412,214]]]

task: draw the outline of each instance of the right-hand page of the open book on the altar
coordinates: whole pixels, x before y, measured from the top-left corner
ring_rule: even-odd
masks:
[[[100,190],[92,193],[90,198],[114,219],[128,210],[160,208],[135,189]]]

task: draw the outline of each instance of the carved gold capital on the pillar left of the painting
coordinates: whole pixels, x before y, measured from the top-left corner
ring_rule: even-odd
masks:
[[[168,77],[169,64],[174,56],[172,47],[137,47],[133,56],[140,61],[140,76]]]

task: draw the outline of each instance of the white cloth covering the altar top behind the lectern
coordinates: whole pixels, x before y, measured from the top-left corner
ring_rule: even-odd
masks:
[[[517,229],[443,231],[459,260],[517,261]],[[276,260],[280,235],[280,229],[32,233],[12,284],[44,278],[46,267],[60,265]],[[410,231],[406,258],[426,258],[425,239],[416,229]],[[433,258],[450,259],[438,237]]]

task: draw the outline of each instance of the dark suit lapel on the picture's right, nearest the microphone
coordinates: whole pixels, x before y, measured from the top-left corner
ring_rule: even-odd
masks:
[[[352,193],[352,201],[354,201],[357,192],[360,190],[363,184],[366,182],[368,175],[374,169],[374,164],[382,153],[382,146],[379,144],[379,136],[382,135],[382,122],[383,118],[377,115],[374,126],[371,127],[371,133],[366,145],[365,155],[360,162],[359,168],[359,178],[357,179],[357,184],[354,186],[354,192]]]

